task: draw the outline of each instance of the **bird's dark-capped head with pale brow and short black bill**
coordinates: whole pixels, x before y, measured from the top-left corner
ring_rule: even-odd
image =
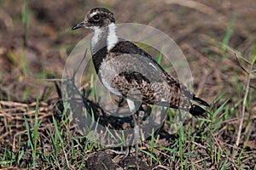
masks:
[[[82,22],[72,27],[72,30],[79,29],[81,27],[95,31],[103,27],[109,26],[114,23],[114,15],[107,8],[92,8],[85,15]]]

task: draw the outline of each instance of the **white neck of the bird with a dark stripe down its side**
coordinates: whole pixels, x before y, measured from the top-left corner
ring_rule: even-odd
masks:
[[[96,54],[102,48],[107,48],[108,52],[118,42],[114,23],[106,27],[95,27],[94,34],[90,42],[91,54]]]

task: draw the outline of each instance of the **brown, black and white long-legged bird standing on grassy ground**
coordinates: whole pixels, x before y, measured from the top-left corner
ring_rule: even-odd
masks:
[[[92,8],[72,30],[80,27],[94,31],[90,51],[102,84],[126,99],[131,111],[140,100],[188,111],[193,116],[207,116],[207,111],[191,101],[209,106],[207,102],[164,71],[142,48],[117,37],[114,15],[107,8]]]

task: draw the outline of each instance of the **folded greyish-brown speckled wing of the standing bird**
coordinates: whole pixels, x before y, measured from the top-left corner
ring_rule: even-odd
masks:
[[[150,105],[190,108],[189,98],[181,94],[178,83],[142,55],[110,53],[101,68],[102,83],[113,94]]]

